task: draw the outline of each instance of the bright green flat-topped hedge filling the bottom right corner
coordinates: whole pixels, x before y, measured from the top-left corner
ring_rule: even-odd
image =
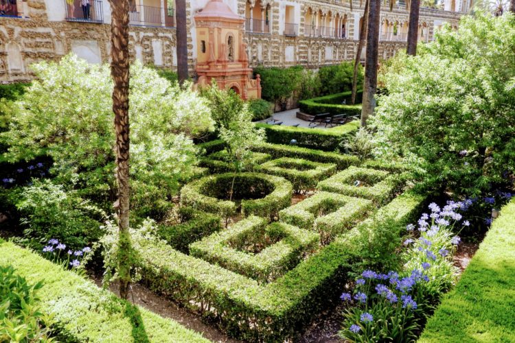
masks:
[[[419,342],[515,342],[515,200],[429,318]]]

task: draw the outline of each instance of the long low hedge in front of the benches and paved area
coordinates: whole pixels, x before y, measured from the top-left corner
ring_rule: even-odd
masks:
[[[358,126],[355,121],[337,126],[331,129],[321,128],[295,128],[293,126],[270,125],[265,123],[255,124],[258,128],[264,128],[266,141],[275,144],[290,144],[295,139],[297,146],[334,151],[343,143],[354,136]],[[338,130],[336,130],[338,128]],[[333,130],[334,129],[334,130]]]

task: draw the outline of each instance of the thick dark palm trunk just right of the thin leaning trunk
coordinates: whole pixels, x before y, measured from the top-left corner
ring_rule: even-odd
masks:
[[[369,0],[361,126],[367,126],[367,119],[370,115],[374,114],[374,109],[376,108],[376,99],[374,96],[377,92],[380,10],[381,0]]]

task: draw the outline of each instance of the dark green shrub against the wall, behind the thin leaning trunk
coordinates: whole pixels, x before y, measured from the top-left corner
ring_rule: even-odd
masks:
[[[334,94],[352,89],[352,75],[354,74],[353,62],[341,62],[341,64],[325,66],[319,69],[321,94]],[[363,84],[363,67],[358,69],[358,84]]]

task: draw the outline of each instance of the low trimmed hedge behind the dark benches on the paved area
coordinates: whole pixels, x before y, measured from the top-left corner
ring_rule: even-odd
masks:
[[[351,91],[325,95],[324,97],[314,97],[299,102],[301,112],[308,115],[317,115],[319,113],[330,113],[331,115],[361,115],[361,104],[356,105],[342,105],[343,100],[350,104]],[[356,94],[356,102],[361,103],[363,91],[358,91]]]

